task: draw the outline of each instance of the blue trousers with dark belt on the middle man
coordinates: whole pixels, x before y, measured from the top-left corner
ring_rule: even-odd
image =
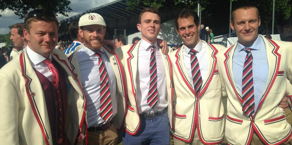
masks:
[[[145,119],[143,115],[140,115],[140,119],[140,129],[136,135],[132,136],[125,130],[123,131],[124,145],[170,144],[170,125],[167,112],[154,117],[154,119]]]

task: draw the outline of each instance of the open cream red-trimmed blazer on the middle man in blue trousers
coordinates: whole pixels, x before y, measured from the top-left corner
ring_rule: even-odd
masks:
[[[128,44],[117,49],[117,54],[121,60],[121,64],[124,67],[125,80],[127,84],[128,104],[127,113],[125,116],[124,128],[130,135],[135,135],[140,128],[140,116],[139,110],[136,103],[136,76],[138,73],[138,48],[140,41],[135,44]],[[168,52],[170,54],[171,50]],[[160,53],[164,58],[165,75],[166,75],[166,91],[168,101],[168,117],[172,120],[173,109],[172,109],[172,96],[173,86],[172,82],[172,68],[171,61],[168,54],[164,55],[160,49]],[[140,105],[140,104],[138,104]]]

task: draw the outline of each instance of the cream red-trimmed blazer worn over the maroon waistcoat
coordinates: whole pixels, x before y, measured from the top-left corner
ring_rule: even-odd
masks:
[[[51,56],[65,75],[66,137],[69,144],[84,144],[86,97],[63,51]],[[0,82],[1,144],[53,144],[44,92],[26,49],[1,68]]]

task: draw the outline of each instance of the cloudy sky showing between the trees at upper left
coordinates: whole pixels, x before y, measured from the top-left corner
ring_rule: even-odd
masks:
[[[102,6],[106,3],[119,0],[70,0],[71,3],[69,6],[72,8],[72,11],[67,13],[69,17],[77,15],[79,13],[85,12],[92,8]],[[6,34],[10,31],[8,26],[23,22],[24,19],[19,19],[19,16],[15,15],[12,10],[6,9],[4,12],[1,12],[2,17],[0,17],[0,34]],[[58,20],[65,19],[66,17],[58,14]]]

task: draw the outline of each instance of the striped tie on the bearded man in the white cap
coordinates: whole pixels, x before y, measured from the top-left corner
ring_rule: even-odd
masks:
[[[98,51],[95,55],[98,57],[99,76],[100,76],[100,117],[108,122],[113,116],[112,112],[112,100],[109,90],[109,78],[107,77],[107,71],[102,61],[102,51]]]

